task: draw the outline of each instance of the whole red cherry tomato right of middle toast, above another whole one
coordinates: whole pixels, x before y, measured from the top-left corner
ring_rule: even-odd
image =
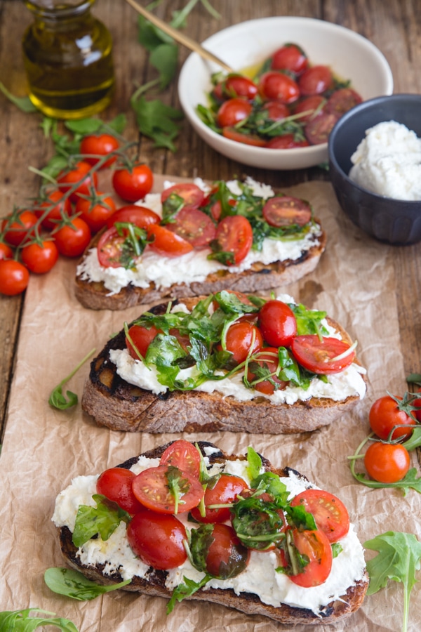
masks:
[[[402,398],[397,397],[397,399],[401,400]],[[390,395],[380,397],[373,403],[368,414],[368,421],[370,421],[370,428],[373,433],[385,440],[389,438],[394,426],[407,426],[407,428],[396,428],[392,434],[392,439],[410,437],[413,433],[411,426],[416,424],[415,420],[411,419],[404,410],[399,409],[399,405]]]

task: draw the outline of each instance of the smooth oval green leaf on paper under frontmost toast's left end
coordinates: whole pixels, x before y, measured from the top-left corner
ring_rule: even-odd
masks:
[[[88,601],[95,599],[98,595],[116,591],[131,583],[131,579],[120,581],[119,584],[111,586],[100,586],[94,581],[86,579],[79,571],[69,568],[48,568],[44,573],[44,581],[53,593],[65,595],[78,601]]]

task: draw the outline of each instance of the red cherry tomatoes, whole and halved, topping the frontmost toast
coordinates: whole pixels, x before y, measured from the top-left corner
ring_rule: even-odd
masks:
[[[169,480],[178,477],[182,493],[175,501]],[[239,574],[250,557],[250,546],[236,532],[229,505],[250,498],[255,490],[249,489],[243,478],[222,473],[214,485],[201,482],[201,455],[194,445],[185,440],[176,440],[163,452],[159,466],[147,468],[135,475],[131,470],[111,468],[105,470],[97,482],[97,492],[116,502],[131,514],[127,527],[128,542],[145,564],[158,570],[169,570],[182,565],[187,559],[187,533],[179,514],[191,513],[200,525],[213,525],[210,544],[203,551],[203,569],[213,577],[225,579]],[[259,497],[262,511],[254,518],[265,522],[265,502],[273,497],[267,492]],[[178,506],[176,506],[178,502]],[[213,508],[217,505],[228,505]],[[200,506],[200,507],[199,507]],[[279,509],[279,521],[275,526],[275,537],[283,539],[288,534],[300,555],[307,555],[309,563],[303,570],[291,574],[290,579],[299,586],[318,586],[326,581],[332,566],[330,544],[346,536],[349,530],[349,515],[344,504],[333,494],[322,490],[308,489],[295,496],[291,507],[302,506],[312,513],[316,530],[298,529],[288,524],[286,513]],[[271,528],[272,528],[271,524]],[[195,529],[191,540],[194,541]],[[240,534],[242,535],[242,534]],[[276,551],[279,564],[289,564],[286,547],[272,544],[264,549]]]

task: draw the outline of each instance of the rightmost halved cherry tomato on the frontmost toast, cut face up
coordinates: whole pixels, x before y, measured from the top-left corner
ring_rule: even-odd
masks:
[[[338,542],[349,531],[349,514],[344,503],[334,494],[323,489],[306,489],[291,501],[291,507],[302,505],[312,513],[318,529],[329,542]]]

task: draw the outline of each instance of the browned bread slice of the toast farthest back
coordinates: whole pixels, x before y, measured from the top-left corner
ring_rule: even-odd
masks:
[[[319,220],[315,221],[319,223]],[[128,284],[117,294],[108,296],[109,290],[102,282],[83,281],[80,275],[76,275],[75,296],[83,307],[91,310],[123,310],[135,305],[211,294],[223,289],[249,294],[265,291],[288,285],[313,272],[326,247],[326,233],[322,230],[317,239],[319,243],[314,244],[308,251],[304,251],[299,259],[286,259],[286,261],[276,261],[268,265],[254,263],[249,270],[243,272],[218,270],[208,275],[203,282],[180,283],[168,288],[156,289],[154,283],[145,289]],[[98,237],[95,237],[88,250],[97,243]]]

